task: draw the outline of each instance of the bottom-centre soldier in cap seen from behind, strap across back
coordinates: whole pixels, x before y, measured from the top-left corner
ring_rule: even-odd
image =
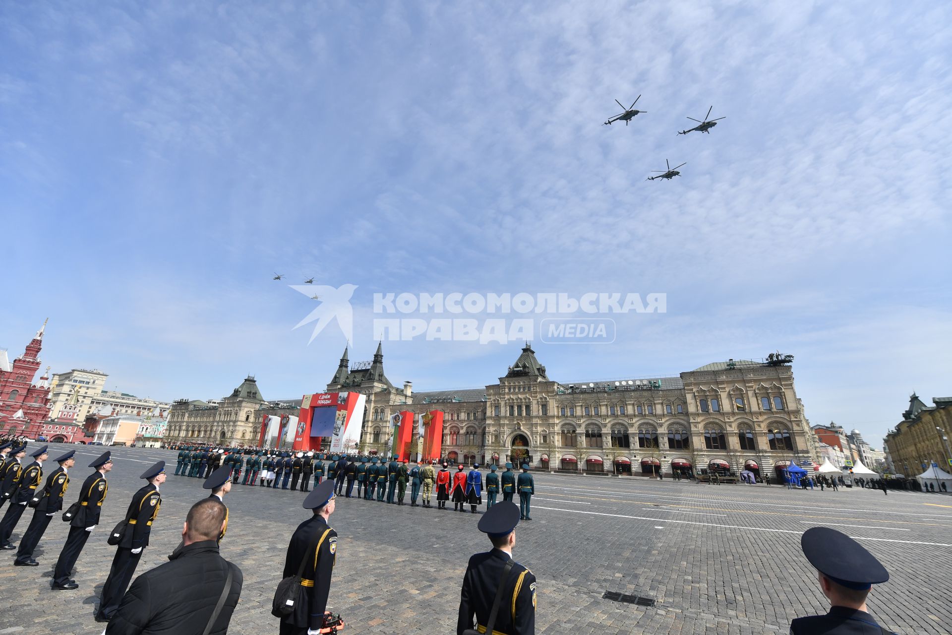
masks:
[[[463,589],[460,593],[456,634],[473,627],[480,632],[498,635],[533,635],[535,633],[536,580],[525,566],[512,560],[516,544],[519,509],[504,501],[492,506],[479,521],[479,530],[492,543],[492,550],[477,553],[469,559]],[[488,624],[500,581],[503,596],[496,621]]]

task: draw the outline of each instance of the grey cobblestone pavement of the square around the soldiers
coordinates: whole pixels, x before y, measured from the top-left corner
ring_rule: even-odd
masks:
[[[89,472],[79,466],[99,454],[75,447],[74,485]],[[102,523],[77,563],[80,587],[50,590],[68,532],[54,517],[35,555],[39,567],[14,567],[12,557],[0,565],[0,633],[102,632],[92,615],[114,551],[106,532],[150,463],[169,461],[169,479],[137,573],[166,562],[188,507],[208,495],[199,479],[172,475],[174,452],[119,448],[113,458]],[[68,501],[76,496],[70,486]],[[240,485],[228,495],[222,553],[245,574],[229,633],[277,632],[271,596],[288,538],[307,517],[303,496]],[[347,632],[452,632],[466,560],[488,547],[477,518],[340,500],[331,517],[341,538],[329,604]],[[794,617],[826,610],[800,550],[800,534],[816,525],[861,539],[889,569],[890,581],[874,587],[869,602],[881,624],[899,633],[952,632],[952,496],[536,474],[532,518],[517,529],[515,557],[539,580],[539,633],[786,633]],[[14,541],[28,524],[25,515]],[[614,603],[602,599],[605,590],[656,605]]]

